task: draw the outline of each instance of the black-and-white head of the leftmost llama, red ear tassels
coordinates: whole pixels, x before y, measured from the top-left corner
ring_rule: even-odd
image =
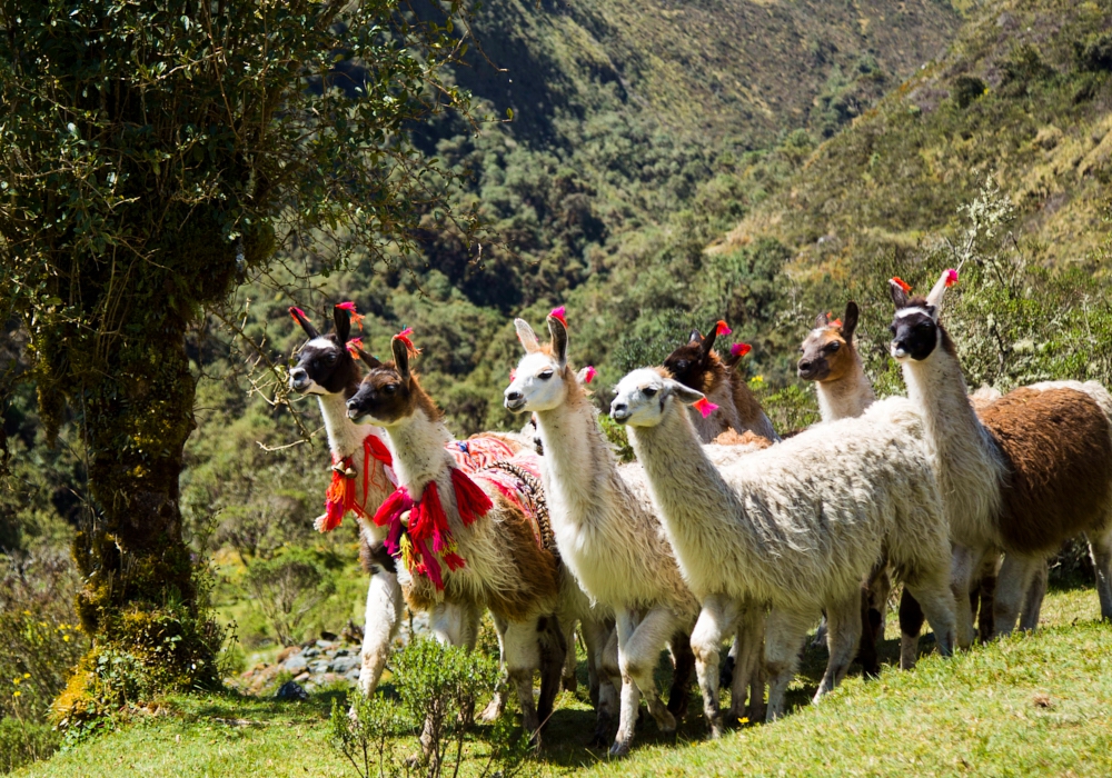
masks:
[[[347,349],[351,339],[351,310],[336,306],[332,319],[336,329],[320,335],[300,308],[290,308],[290,316],[309,337],[289,371],[289,388],[302,395],[347,395],[359,386],[359,367]]]

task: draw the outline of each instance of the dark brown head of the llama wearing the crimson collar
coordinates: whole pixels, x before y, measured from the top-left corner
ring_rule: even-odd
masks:
[[[394,336],[391,362],[380,362],[359,349],[359,358],[370,370],[347,401],[349,419],[383,427],[400,423],[418,411],[424,411],[431,421],[440,419],[439,409],[409,368],[410,346],[405,338]]]

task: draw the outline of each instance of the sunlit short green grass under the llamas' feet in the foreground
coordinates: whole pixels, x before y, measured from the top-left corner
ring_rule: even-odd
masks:
[[[679,735],[661,736],[643,719],[633,756],[620,762],[585,747],[593,715],[580,687],[578,697],[562,694],[547,745],[525,774],[1112,775],[1112,625],[1098,617],[1092,588],[1053,589],[1036,635],[950,661],[927,656],[912,672],[888,667],[873,681],[854,676],[820,706],[806,699],[825,652],[808,650],[793,687],[798,707],[780,722],[706,741],[693,689]],[[887,638],[884,659],[894,662],[894,619]],[[327,739],[340,694],[302,704],[171,697],[122,730],[17,775],[348,775]]]

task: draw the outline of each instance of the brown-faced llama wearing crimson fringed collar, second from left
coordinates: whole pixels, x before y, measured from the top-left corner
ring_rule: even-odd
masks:
[[[370,370],[347,401],[348,417],[381,426],[395,452],[399,488],[374,521],[387,528],[387,548],[405,562],[398,576],[411,608],[441,602],[489,608],[504,636],[503,658],[524,727],[538,738],[552,714],[565,660],[560,618],[583,618],[592,648],[603,628],[585,612],[589,607],[583,595],[564,584],[542,515],[534,525],[495,473],[473,473],[473,480],[446,449],[450,436],[440,410],[410,370],[415,349],[407,335],[394,337],[394,361],[379,362],[359,351]],[[520,468],[535,466],[534,455],[518,452],[518,459]],[[535,705],[537,670],[543,671],[542,694]]]

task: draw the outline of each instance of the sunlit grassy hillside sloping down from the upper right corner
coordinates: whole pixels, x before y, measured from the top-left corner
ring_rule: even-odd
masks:
[[[800,265],[842,273],[862,255],[922,256],[991,173],[1031,260],[1092,258],[1112,176],[1110,30],[1106,1],[984,3],[945,57],[825,143],[719,248],[775,236]]]

